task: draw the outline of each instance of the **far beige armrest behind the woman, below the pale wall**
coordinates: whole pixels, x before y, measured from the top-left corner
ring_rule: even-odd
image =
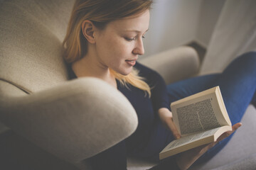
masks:
[[[144,57],[139,62],[159,72],[166,84],[193,77],[200,65],[196,50],[186,46]]]

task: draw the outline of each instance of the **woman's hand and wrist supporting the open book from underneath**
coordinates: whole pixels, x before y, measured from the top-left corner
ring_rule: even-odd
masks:
[[[218,140],[216,142],[212,142],[208,145],[196,147],[196,148],[190,149],[186,152],[182,152],[181,154],[178,154],[178,156],[176,157],[176,162],[178,164],[178,167],[182,170],[188,169],[194,162],[196,162],[196,160],[199,157],[201,157],[204,153],[206,153],[206,151],[208,151],[208,149],[210,149],[211,147],[214,147],[218,142],[220,142],[220,140],[224,140],[226,137],[231,135],[241,125],[242,125],[242,123],[236,123],[235,125],[233,125],[232,130],[223,133],[223,135],[220,135],[220,137],[218,137]]]

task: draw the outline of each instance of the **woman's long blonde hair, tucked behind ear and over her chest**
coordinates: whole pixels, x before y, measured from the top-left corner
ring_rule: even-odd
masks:
[[[82,35],[82,21],[90,20],[100,29],[104,29],[107,23],[117,19],[142,13],[150,8],[152,0],[76,0],[68,23],[68,30],[63,40],[65,47],[64,59],[71,63],[80,60],[87,53],[87,40]],[[110,72],[121,84],[127,83],[142,89],[151,96],[150,87],[139,77],[139,71],[135,68],[126,76],[110,69]]]

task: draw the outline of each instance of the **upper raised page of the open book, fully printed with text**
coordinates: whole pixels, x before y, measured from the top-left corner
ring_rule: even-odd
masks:
[[[223,102],[220,98],[222,97],[217,86],[171,103],[174,123],[181,136],[230,125],[228,113],[223,108],[224,103],[220,106]]]

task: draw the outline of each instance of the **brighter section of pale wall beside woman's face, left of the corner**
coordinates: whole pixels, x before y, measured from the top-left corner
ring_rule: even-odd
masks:
[[[186,44],[195,38],[202,0],[155,0],[149,31],[144,40],[145,55]]]

